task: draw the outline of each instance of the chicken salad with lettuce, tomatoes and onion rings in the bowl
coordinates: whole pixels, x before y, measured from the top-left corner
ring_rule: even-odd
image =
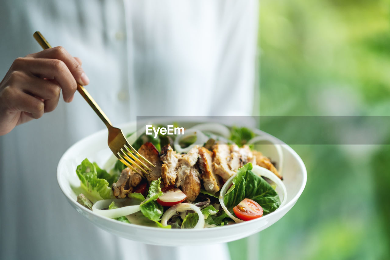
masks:
[[[265,139],[248,128],[207,123],[184,135],[138,131],[128,139],[155,167],[145,174],[114,160],[106,171],[86,158],[76,168],[83,190],[78,203],[124,223],[180,229],[269,214],[282,203],[277,186],[286,197],[280,165],[255,150]]]

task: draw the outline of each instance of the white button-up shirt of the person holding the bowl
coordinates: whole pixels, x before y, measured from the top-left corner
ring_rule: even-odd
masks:
[[[248,115],[258,9],[255,0],[2,0],[0,78],[17,57],[41,51],[39,30],[83,60],[87,89],[114,125],[137,115]],[[75,93],[0,137],[0,259],[229,258],[223,244],[188,254],[122,239],[71,208],[58,160],[104,127]]]

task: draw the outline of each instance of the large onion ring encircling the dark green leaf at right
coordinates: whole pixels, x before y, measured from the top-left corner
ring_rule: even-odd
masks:
[[[286,203],[287,201],[287,189],[286,189],[286,186],[284,185],[284,183],[278,178],[278,176],[275,175],[275,173],[269,171],[268,169],[266,168],[263,168],[263,167],[260,167],[258,165],[254,165],[253,168],[252,168],[252,171],[259,175],[259,176],[264,176],[264,177],[267,177],[269,178],[271,181],[275,182],[276,185],[278,187],[280,187],[282,189],[282,194],[279,194],[279,197],[280,195],[283,195],[283,200],[282,200],[282,203],[280,203],[280,206],[277,208],[277,210],[279,208],[281,208],[282,206],[284,206],[284,204]],[[229,190],[230,188],[230,184],[232,184],[233,182],[233,179],[234,177],[237,176],[237,173],[234,174],[233,176],[231,176],[229,178],[229,180],[227,180],[227,182],[225,182],[225,184],[223,184],[222,188],[221,188],[221,191],[220,191],[220,204],[223,208],[223,210],[225,210],[226,214],[229,215],[229,217],[231,219],[234,220],[234,222],[236,223],[240,223],[240,222],[245,222],[244,220],[241,220],[241,219],[238,219],[237,217],[234,217],[230,212],[229,210],[227,209],[227,207],[225,206],[225,202],[223,201],[223,197],[225,196],[226,192]]]

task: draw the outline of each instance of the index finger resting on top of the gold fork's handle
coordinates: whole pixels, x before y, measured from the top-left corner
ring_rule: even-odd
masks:
[[[76,79],[76,81],[80,85],[89,84],[89,78],[85,74],[80,63],[76,59],[74,59],[74,57],[70,55],[64,47],[57,46],[54,48],[49,48],[41,52],[29,54],[26,57],[58,59],[60,61],[63,61],[68,67],[69,71],[72,73],[74,79]]]

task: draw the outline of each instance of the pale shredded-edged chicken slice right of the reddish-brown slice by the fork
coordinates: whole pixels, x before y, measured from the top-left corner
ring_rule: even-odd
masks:
[[[167,187],[168,185],[174,185],[176,182],[176,166],[181,155],[172,149],[167,144],[162,149],[163,154],[160,155],[163,165],[161,167],[161,181]]]

